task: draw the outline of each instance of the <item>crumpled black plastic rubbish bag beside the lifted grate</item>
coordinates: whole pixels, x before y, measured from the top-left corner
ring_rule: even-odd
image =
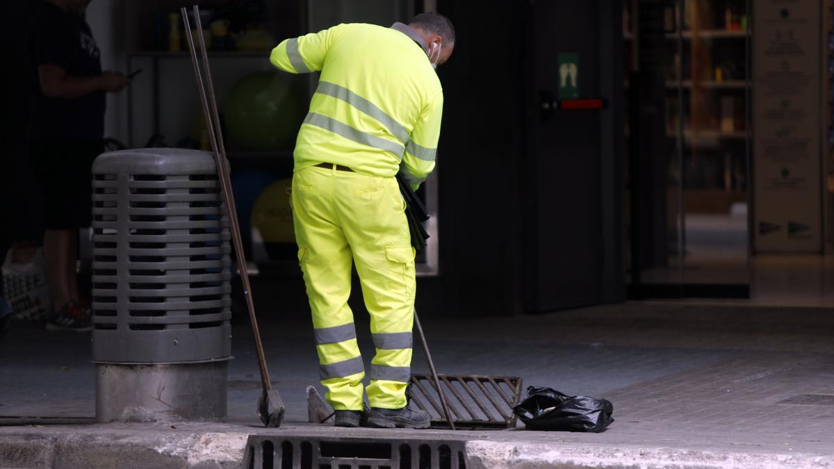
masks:
[[[530,386],[527,397],[513,408],[530,430],[605,431],[614,406],[605,399],[566,396],[549,387]]]

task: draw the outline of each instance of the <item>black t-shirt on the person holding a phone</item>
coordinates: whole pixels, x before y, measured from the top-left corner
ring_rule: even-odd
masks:
[[[93,31],[81,15],[45,2],[34,18],[29,37],[30,65],[36,89],[29,135],[44,139],[101,139],[104,134],[105,93],[80,98],[47,98],[38,78],[38,67],[51,63],[67,74],[89,77],[102,73]]]

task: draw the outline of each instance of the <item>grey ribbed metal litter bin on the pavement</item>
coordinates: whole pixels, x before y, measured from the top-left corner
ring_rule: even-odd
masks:
[[[129,149],[95,160],[98,421],[226,416],[228,222],[212,154]]]

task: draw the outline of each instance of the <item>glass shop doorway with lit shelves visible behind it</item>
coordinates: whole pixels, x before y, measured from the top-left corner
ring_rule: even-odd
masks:
[[[749,2],[623,8],[629,296],[748,298]]]

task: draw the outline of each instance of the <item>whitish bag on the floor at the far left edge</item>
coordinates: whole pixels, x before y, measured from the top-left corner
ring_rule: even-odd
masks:
[[[3,296],[18,320],[45,321],[52,312],[43,250],[13,245],[3,261]]]

